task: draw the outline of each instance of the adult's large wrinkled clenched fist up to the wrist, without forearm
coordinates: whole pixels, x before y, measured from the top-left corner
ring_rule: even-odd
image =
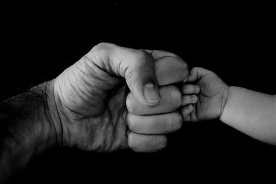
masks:
[[[50,110],[59,144],[99,152],[126,147],[154,152],[163,148],[166,137],[159,134],[181,126],[181,115],[172,112],[181,105],[177,102],[181,92],[173,86],[158,92],[158,85],[183,81],[186,76],[186,63],[170,52],[96,45],[50,85],[56,106]],[[172,113],[144,116],[139,125],[134,123],[138,122],[134,121],[135,113],[130,117],[126,111],[125,84],[131,92],[127,102],[131,112],[139,112],[136,100],[155,111],[153,114]]]

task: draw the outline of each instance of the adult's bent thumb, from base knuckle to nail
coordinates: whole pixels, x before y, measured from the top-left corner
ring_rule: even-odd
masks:
[[[112,76],[124,77],[137,101],[148,106],[159,103],[155,59],[151,54],[112,43],[99,43],[93,48],[92,58],[99,68]]]

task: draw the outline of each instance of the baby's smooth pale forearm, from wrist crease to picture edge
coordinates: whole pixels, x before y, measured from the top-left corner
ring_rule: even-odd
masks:
[[[276,145],[275,96],[231,86],[220,120],[259,141]]]

